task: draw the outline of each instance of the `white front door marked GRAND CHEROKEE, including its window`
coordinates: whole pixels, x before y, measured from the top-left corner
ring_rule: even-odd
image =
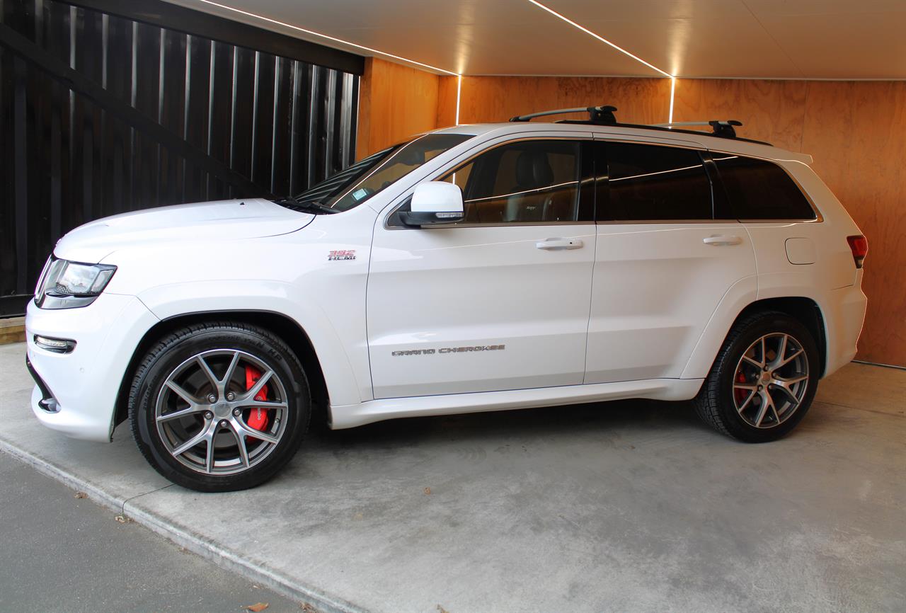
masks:
[[[498,145],[439,177],[463,190],[461,223],[379,219],[367,296],[374,397],[583,382],[596,240],[593,182],[581,180],[591,177],[590,146]]]

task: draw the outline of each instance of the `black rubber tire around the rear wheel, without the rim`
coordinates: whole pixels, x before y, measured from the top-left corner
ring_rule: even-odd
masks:
[[[742,367],[743,354],[750,350],[754,344],[758,343],[761,338],[768,335],[789,335],[798,343],[807,365],[808,378],[805,381],[805,390],[802,392],[798,406],[788,416],[775,419],[776,423],[774,424],[771,423],[771,418],[769,417],[764,426],[757,427],[750,423],[753,420],[751,416],[753,412],[758,412],[760,405],[764,402],[764,397],[757,396],[761,396],[766,392],[751,392],[754,397],[753,406],[746,409],[749,411],[746,413],[737,409],[737,402],[739,401],[735,399],[734,394],[740,393],[740,390],[735,389],[734,384],[735,381],[739,381],[737,377],[740,377],[740,371],[737,371],[737,368]],[[767,353],[767,355],[771,354]],[[776,356],[776,350],[774,355]],[[801,365],[802,362],[797,362],[797,364]],[[757,368],[755,369],[757,370]],[[763,368],[763,370],[765,369]],[[714,360],[711,371],[708,373],[708,378],[705,379],[699,390],[699,395],[695,398],[696,411],[706,424],[727,436],[732,436],[747,443],[775,441],[786,436],[805,417],[805,413],[811,407],[814,393],[818,388],[820,370],[819,353],[814,338],[802,323],[779,311],[756,312],[737,321],[730,330],[727,340],[724,342],[717,359]],[[754,376],[755,373],[753,373]],[[768,375],[766,374],[765,376],[767,377]],[[746,378],[744,374],[742,378]],[[742,383],[748,382],[743,381]],[[756,380],[751,383],[755,385],[760,383],[760,381]],[[762,387],[771,388],[768,385]],[[778,391],[782,392],[782,390]],[[741,393],[747,399],[745,390],[742,390]],[[784,398],[783,394],[781,394],[781,398]],[[739,402],[740,406],[744,404],[745,401]],[[790,406],[792,407],[792,403]],[[744,417],[744,414],[748,417]],[[776,410],[774,415],[777,415]]]

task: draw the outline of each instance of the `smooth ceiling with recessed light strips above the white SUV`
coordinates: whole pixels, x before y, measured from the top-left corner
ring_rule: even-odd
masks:
[[[440,72],[663,76],[530,0],[171,1]],[[539,2],[678,77],[906,79],[906,0]]]

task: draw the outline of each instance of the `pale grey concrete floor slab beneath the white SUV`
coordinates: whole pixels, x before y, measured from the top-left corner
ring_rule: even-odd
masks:
[[[847,366],[768,445],[683,404],[411,419],[317,430],[274,482],[199,494],[127,429],[39,426],[23,351],[0,347],[0,447],[320,608],[906,609],[906,371]]]

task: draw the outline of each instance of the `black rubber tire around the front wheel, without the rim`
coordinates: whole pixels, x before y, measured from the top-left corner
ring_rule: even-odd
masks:
[[[175,444],[172,441],[164,440],[164,437],[169,435],[161,433],[156,413],[160,401],[159,398],[164,397],[165,392],[162,389],[168,378],[173,373],[178,372],[179,368],[188,368],[185,365],[187,363],[191,365],[191,360],[194,356],[198,356],[198,354],[205,351],[216,352],[218,350],[232,350],[237,356],[236,367],[233,371],[234,376],[230,379],[233,381],[232,384],[226,381],[230,372],[229,368],[224,368],[222,371],[222,377],[226,381],[224,389],[228,385],[236,386],[237,378],[241,382],[242,373],[239,372],[238,366],[242,363],[238,361],[240,357],[242,359],[254,358],[258,360],[262,368],[266,367],[273,370],[268,379],[269,384],[271,388],[282,390],[281,396],[285,396],[284,398],[278,398],[279,401],[284,403],[285,407],[274,409],[279,410],[279,416],[281,416],[273,419],[275,422],[274,426],[281,428],[277,433],[279,437],[276,434],[274,436],[274,443],[267,443],[251,436],[240,436],[236,434],[237,428],[228,429],[227,427],[219,431],[213,427],[208,430],[215,433],[211,436],[221,436],[221,438],[217,439],[217,442],[210,444],[199,443],[199,445],[205,445],[206,449],[213,447],[212,451],[206,453],[214,457],[215,453],[220,453],[221,451],[220,441],[223,440],[222,436],[224,433],[226,432],[233,436],[232,440],[236,444],[236,461],[239,464],[237,467],[231,468],[231,470],[236,471],[232,474],[217,474],[213,468],[210,473],[206,473],[204,472],[205,466],[200,467],[200,469],[193,469],[186,465],[188,463],[186,459],[188,452],[180,454],[183,459],[178,459],[176,455],[173,455],[168,448],[168,443],[170,447]],[[215,359],[217,356],[216,353],[206,355],[215,355]],[[246,364],[248,363],[246,362]],[[215,368],[216,365],[210,366],[212,371]],[[246,366],[246,369],[248,369],[248,366]],[[221,377],[219,373],[216,374],[216,378]],[[213,386],[211,387],[213,388]],[[246,388],[238,389],[244,390]],[[214,389],[213,391],[216,392],[217,390]],[[170,394],[171,388],[168,387],[166,393]],[[241,391],[239,393],[241,394]],[[269,392],[265,391],[262,393],[266,394]],[[196,397],[197,394],[198,388],[191,396]],[[223,397],[226,398],[226,396],[227,394],[225,393]],[[236,397],[235,393],[233,397]],[[257,399],[261,400],[262,398],[258,397]],[[209,399],[204,400],[204,402],[209,402]],[[191,407],[190,403],[187,404],[188,407]],[[223,410],[225,405],[226,403],[223,402],[217,403],[218,410]],[[213,408],[213,406],[211,407]],[[232,410],[236,411],[233,415],[236,416],[237,423],[241,421],[242,424],[247,425],[247,421],[245,421],[248,418],[247,413],[246,417],[243,417],[242,414],[245,409],[234,408]],[[248,408],[247,410],[251,412],[255,409]],[[261,417],[260,412],[261,409],[259,409],[259,418]],[[207,425],[213,425],[213,422],[219,419],[219,417],[210,417],[214,415],[212,411],[207,410],[198,415],[187,416],[184,420],[174,421],[178,421],[176,427],[181,427],[184,421],[188,420],[191,425],[191,420],[194,419],[198,423],[199,430],[202,430]],[[236,321],[212,321],[193,324],[175,330],[161,338],[150,347],[148,353],[141,360],[138,369],[135,371],[129,395],[132,436],[139,445],[142,455],[145,456],[149,464],[159,474],[162,474],[175,484],[198,492],[232,492],[265,483],[295,455],[308,429],[311,415],[312,399],[308,381],[302,364],[300,364],[294,352],[289,349],[283,340],[277,338],[270,331]],[[224,417],[230,420],[233,419],[233,417],[228,415]],[[229,423],[226,419],[218,422],[218,426],[226,426]],[[240,439],[244,442],[245,457],[238,456],[240,454],[238,440]],[[249,443],[254,447],[253,450],[248,449]],[[190,448],[189,452],[195,453],[193,450],[196,449],[198,449],[197,453],[200,454],[200,447],[198,446]],[[178,451],[178,449],[174,449],[174,451]],[[254,462],[252,459],[253,453],[259,454],[254,459]],[[207,465],[214,466],[216,463],[217,460],[213,462],[209,460]],[[199,470],[202,472],[199,472]]]

